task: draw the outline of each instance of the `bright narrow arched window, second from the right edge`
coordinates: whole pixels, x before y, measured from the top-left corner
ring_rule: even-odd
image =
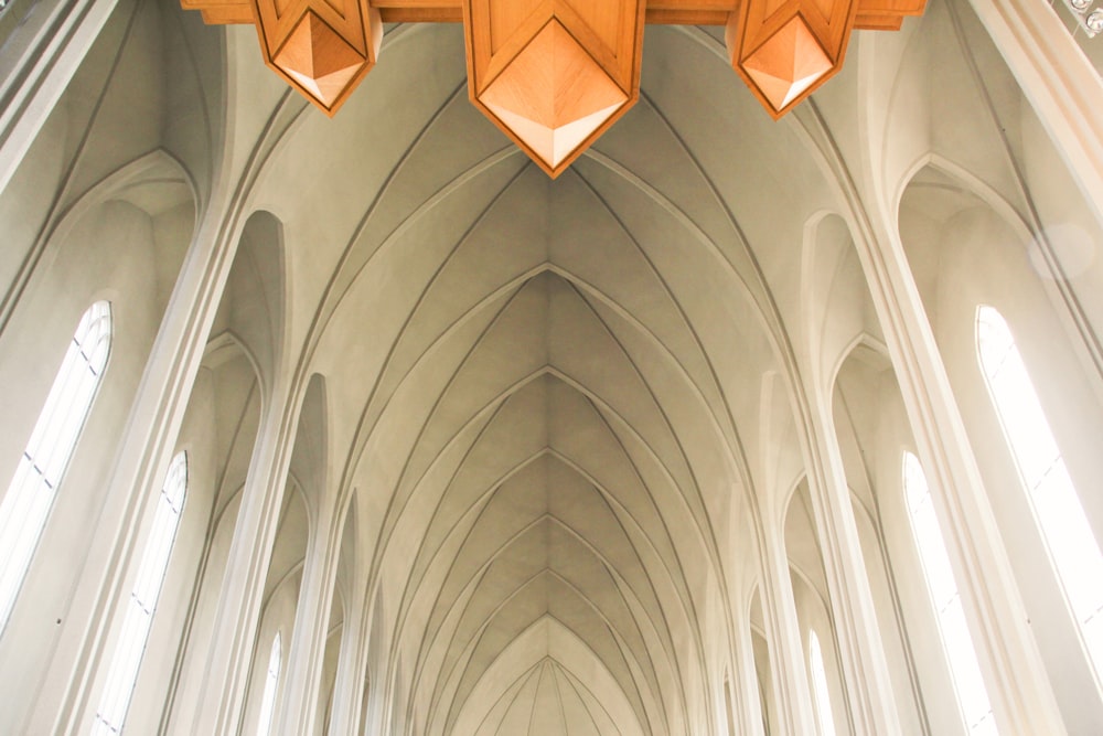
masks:
[[[950,673],[954,680],[957,705],[968,733],[979,736],[995,734],[996,724],[992,715],[988,691],[981,676],[981,665],[976,661],[976,649],[965,622],[957,580],[950,566],[950,555],[942,538],[939,520],[931,504],[931,491],[927,484],[923,467],[911,452],[903,454],[903,490],[911,513],[911,527],[915,533],[919,558],[927,578],[927,589],[938,614],[939,634],[942,648],[950,661]]]

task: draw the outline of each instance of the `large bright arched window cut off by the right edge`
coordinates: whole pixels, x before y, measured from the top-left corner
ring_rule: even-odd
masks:
[[[977,353],[1035,518],[1096,673],[1103,674],[1103,554],[1007,322],[976,312]]]

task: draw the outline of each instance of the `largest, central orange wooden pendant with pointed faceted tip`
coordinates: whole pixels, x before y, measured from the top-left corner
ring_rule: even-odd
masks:
[[[464,0],[472,103],[557,177],[639,99],[642,0]]]

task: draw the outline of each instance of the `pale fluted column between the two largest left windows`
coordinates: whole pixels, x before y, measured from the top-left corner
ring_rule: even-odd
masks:
[[[224,237],[225,210],[210,206],[196,228],[150,352],[109,479],[96,536],[82,566],[72,609],[43,687],[21,733],[83,730],[95,694],[95,668],[113,616],[122,607],[125,574],[136,553],[135,531],[151,513],[183,423],[206,337],[229,274],[236,238]]]

